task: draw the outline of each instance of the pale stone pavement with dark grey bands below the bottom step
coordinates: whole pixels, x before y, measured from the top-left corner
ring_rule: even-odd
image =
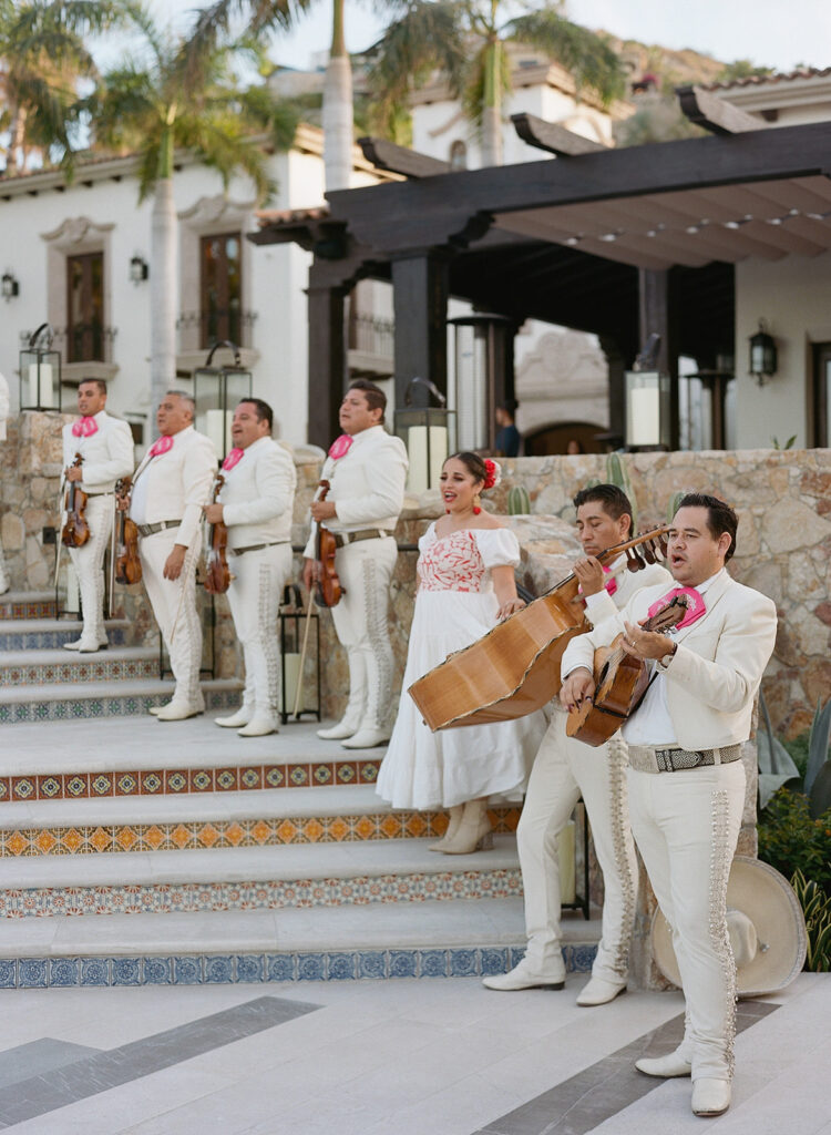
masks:
[[[686,1135],[678,993],[580,1009],[475,978],[7,991],[0,1127],[16,1135]],[[831,1135],[831,978],[740,1002],[719,1135]]]

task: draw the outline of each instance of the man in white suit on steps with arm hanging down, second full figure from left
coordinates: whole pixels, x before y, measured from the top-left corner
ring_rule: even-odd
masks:
[[[193,417],[190,394],[165,394],[156,414],[159,437],[136,470],[129,502],[142,580],[176,680],[171,700],[150,709],[158,721],[183,721],[204,711],[195,569],[217,453],[211,439],[193,428]]]

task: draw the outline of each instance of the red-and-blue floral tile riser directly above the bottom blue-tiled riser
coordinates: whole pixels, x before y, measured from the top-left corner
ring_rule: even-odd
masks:
[[[243,883],[157,883],[128,886],[40,886],[0,892],[1,918],[61,915],[188,914],[367,906],[371,902],[506,899],[522,894],[519,868],[462,874],[361,875]]]

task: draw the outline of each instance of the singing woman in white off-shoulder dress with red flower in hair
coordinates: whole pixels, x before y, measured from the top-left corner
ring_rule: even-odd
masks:
[[[398,716],[377,792],[394,808],[450,809],[431,850],[464,855],[492,844],[490,796],[521,796],[545,732],[542,713],[496,725],[431,733],[409,687],[448,654],[486,634],[523,606],[513,570],[519,544],[482,512],[479,494],[498,480],[495,461],[458,453],[442,469],[445,515],[419,540],[418,592]]]

